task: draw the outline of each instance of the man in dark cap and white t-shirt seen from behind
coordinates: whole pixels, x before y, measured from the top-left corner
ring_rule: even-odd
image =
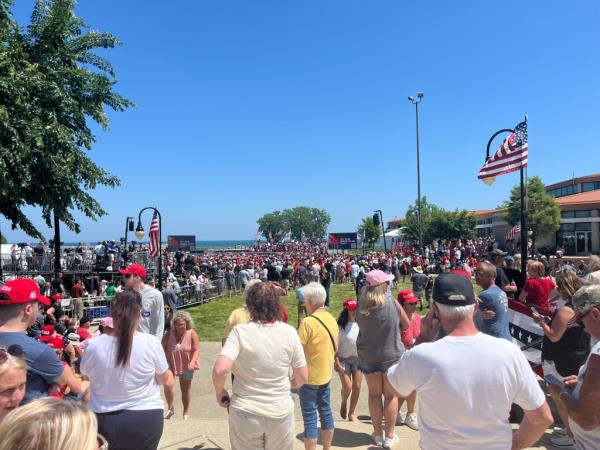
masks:
[[[417,391],[421,448],[517,450],[532,446],[553,419],[519,348],[479,332],[473,321],[473,286],[465,277],[438,276],[433,300],[417,343],[432,341],[440,325],[447,336],[415,346],[388,370],[398,395],[407,397]],[[525,411],[514,435],[508,422],[512,403]]]

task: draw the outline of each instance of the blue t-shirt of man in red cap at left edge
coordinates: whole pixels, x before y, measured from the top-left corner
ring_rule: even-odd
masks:
[[[0,331],[0,345],[20,345],[27,361],[27,385],[22,404],[48,396],[48,386],[62,375],[64,369],[58,356],[47,345],[25,333]]]

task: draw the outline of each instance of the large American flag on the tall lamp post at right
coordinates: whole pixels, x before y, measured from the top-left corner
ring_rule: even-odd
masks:
[[[489,158],[478,178],[486,184],[492,184],[496,177],[527,167],[527,121],[517,125],[494,156]]]

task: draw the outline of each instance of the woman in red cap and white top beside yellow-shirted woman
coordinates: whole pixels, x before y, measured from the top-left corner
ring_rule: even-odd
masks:
[[[342,406],[340,416],[342,419],[357,422],[354,414],[360,395],[362,372],[358,369],[358,353],[356,351],[356,338],[358,337],[358,324],[356,323],[356,307],[358,303],[353,298],[344,300],[344,309],[338,318],[340,328],[338,338],[338,353],[335,359],[335,370],[342,382]],[[350,397],[350,409],[347,408]]]

